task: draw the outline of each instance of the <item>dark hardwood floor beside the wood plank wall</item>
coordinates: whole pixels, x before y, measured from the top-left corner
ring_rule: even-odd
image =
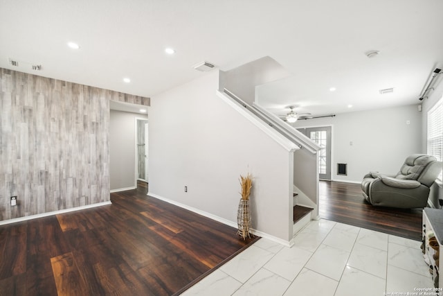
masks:
[[[146,192],[0,226],[0,295],[174,295],[258,239]]]

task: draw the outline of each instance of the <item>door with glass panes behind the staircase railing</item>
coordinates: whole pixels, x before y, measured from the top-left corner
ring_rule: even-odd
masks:
[[[331,180],[331,127],[298,128],[297,130],[321,147],[319,151],[318,177],[323,180]]]

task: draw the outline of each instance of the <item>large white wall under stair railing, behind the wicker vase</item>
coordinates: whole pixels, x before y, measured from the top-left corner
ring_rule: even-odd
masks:
[[[239,175],[249,171],[253,228],[289,241],[293,153],[216,96],[218,88],[213,71],[151,98],[149,194],[236,223]]]

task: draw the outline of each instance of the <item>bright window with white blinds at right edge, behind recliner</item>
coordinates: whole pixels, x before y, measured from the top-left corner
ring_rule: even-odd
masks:
[[[443,160],[443,96],[428,111],[428,155]],[[438,176],[442,180],[442,173]]]

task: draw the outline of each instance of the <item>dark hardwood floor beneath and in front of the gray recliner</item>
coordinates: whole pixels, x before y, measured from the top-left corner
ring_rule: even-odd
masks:
[[[374,207],[360,184],[320,181],[320,217],[421,241],[422,209]]]

